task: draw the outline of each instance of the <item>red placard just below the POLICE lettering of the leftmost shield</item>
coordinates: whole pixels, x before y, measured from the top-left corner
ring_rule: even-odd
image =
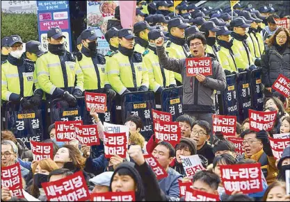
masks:
[[[54,144],[52,142],[30,142],[33,160],[42,160],[45,158],[54,159]]]

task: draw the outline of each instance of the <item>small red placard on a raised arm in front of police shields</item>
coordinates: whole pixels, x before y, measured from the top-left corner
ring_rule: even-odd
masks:
[[[85,92],[86,108],[90,111],[90,108],[95,107],[96,112],[106,112],[106,94]]]

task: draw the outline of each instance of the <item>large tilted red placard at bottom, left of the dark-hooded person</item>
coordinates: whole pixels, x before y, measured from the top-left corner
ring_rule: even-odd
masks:
[[[42,183],[47,201],[87,201],[90,200],[88,186],[83,172],[78,171],[66,178],[50,183]]]

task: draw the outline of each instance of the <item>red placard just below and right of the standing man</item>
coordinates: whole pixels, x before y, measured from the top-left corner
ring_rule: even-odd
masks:
[[[236,135],[236,116],[213,115],[214,133],[222,132],[224,136]]]

